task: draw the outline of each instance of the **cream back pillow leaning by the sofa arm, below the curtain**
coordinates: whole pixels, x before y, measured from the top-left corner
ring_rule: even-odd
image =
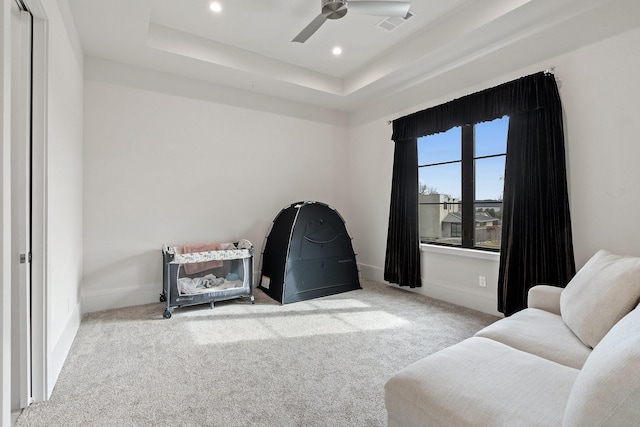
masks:
[[[576,273],[560,296],[562,319],[595,347],[640,299],[640,258],[601,250]]]

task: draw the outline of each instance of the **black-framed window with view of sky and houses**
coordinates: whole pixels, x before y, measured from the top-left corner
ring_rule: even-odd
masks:
[[[499,250],[507,116],[418,139],[420,242]]]

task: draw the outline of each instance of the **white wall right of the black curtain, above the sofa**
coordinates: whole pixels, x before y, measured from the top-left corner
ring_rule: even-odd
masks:
[[[640,255],[640,30],[559,62],[576,263],[598,249]]]

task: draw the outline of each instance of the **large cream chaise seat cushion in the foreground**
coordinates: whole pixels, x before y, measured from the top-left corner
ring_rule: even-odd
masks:
[[[387,381],[388,425],[560,425],[578,372],[491,339],[469,338]]]

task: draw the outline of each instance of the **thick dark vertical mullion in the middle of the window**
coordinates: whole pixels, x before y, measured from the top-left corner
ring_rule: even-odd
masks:
[[[475,235],[475,168],[473,157],[474,126],[462,127],[462,246],[474,246]]]

